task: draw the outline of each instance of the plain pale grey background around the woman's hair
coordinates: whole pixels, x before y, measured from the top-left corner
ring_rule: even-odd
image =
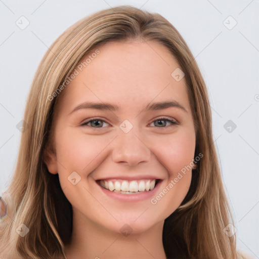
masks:
[[[5,190],[15,168],[21,137],[16,125],[48,47],[79,19],[124,4],[160,13],[179,30],[196,57],[211,101],[213,136],[238,247],[259,258],[258,0],[0,0],[0,190]],[[16,25],[21,16],[30,22],[24,30]],[[229,29],[235,21],[237,25]],[[237,125],[231,133],[224,128],[228,120]]]

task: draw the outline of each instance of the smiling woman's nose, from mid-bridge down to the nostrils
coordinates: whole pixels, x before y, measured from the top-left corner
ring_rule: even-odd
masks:
[[[151,150],[140,136],[135,128],[128,133],[120,131],[113,143],[112,160],[124,162],[130,166],[135,166],[140,162],[148,162]]]

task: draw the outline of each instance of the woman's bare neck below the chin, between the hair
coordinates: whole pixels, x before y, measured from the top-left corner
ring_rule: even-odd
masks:
[[[65,247],[68,259],[166,259],[163,222],[145,232],[123,235],[86,219],[74,209],[73,212],[72,238]]]

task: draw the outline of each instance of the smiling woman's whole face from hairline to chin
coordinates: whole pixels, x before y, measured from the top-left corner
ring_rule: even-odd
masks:
[[[74,215],[139,233],[162,224],[190,187],[183,168],[194,158],[195,130],[185,78],[171,76],[179,65],[157,42],[99,51],[63,90],[47,166]]]

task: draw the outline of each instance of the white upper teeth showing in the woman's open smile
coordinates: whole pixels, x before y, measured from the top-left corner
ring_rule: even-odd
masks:
[[[155,180],[114,180],[114,181],[105,181],[101,180],[100,184],[105,189],[110,191],[123,191],[123,192],[144,192],[153,190],[155,187]]]

